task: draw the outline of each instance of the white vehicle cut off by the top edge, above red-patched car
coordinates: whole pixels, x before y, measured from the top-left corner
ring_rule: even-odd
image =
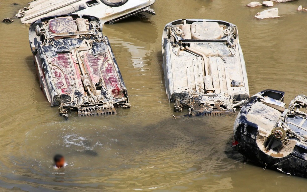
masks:
[[[114,23],[132,15],[147,12],[156,0],[34,0],[16,15],[22,23],[32,23],[42,17],[76,13],[92,15],[104,23]]]

